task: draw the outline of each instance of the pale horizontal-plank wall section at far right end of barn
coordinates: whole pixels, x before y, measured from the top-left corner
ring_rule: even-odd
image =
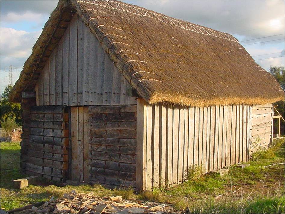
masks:
[[[273,136],[273,105],[257,105],[251,107],[251,143],[250,153],[259,147],[268,147]]]

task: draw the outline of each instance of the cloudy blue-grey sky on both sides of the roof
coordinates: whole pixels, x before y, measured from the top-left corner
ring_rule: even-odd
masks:
[[[8,85],[8,67],[15,68],[14,84],[57,2],[0,1],[1,94]],[[284,1],[124,2],[231,33],[265,70],[284,66]]]

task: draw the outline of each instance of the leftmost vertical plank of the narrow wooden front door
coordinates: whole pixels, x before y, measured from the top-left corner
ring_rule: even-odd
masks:
[[[71,179],[79,180],[78,107],[71,107]]]

